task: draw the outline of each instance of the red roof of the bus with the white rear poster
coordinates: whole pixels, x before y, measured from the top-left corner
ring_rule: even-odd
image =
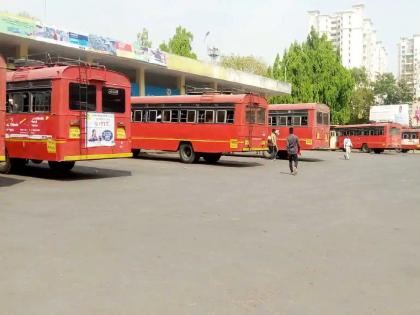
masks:
[[[19,68],[16,71],[7,73],[8,82],[16,81],[35,81],[35,80],[52,80],[52,79],[79,79],[84,76],[84,69],[87,69],[89,80],[112,81],[121,86],[130,86],[129,79],[118,72],[98,67],[86,66],[52,66],[39,68]],[[82,71],[82,72],[81,72]]]

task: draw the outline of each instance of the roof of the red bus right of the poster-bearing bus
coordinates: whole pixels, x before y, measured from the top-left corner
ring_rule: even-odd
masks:
[[[132,104],[160,104],[160,103],[241,103],[246,99],[256,100],[257,103],[267,103],[265,98],[252,94],[203,94],[203,95],[173,95],[173,96],[133,96]]]

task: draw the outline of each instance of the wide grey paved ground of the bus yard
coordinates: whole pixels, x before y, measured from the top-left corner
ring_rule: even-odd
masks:
[[[0,175],[0,314],[419,314],[420,155]]]

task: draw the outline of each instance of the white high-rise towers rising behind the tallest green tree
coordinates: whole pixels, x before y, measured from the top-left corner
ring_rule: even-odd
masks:
[[[346,68],[365,67],[371,80],[387,68],[387,53],[377,39],[372,21],[365,17],[365,6],[348,11],[321,14],[309,11],[309,29],[325,34],[338,50]]]

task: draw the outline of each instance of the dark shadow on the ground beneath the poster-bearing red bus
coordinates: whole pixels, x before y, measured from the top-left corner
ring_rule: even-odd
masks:
[[[79,181],[131,176],[130,171],[78,166],[77,164],[70,172],[60,173],[51,170],[46,163],[42,163],[40,165],[29,164],[13,174],[58,181]]]

